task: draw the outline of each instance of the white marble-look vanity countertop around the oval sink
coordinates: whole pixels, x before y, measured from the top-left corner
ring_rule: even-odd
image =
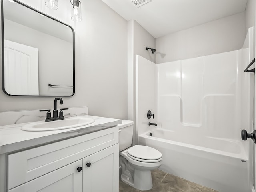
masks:
[[[28,123],[0,126],[0,154],[35,147],[84,134],[89,134],[122,123],[122,120],[85,115],[95,121],[92,124],[53,131],[24,131],[22,126]]]

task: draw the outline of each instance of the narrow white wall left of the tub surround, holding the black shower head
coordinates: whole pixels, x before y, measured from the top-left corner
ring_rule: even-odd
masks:
[[[146,47],[155,48],[155,38],[135,20],[128,21],[128,120],[136,122],[136,55],[155,62],[153,55]],[[134,123],[133,144],[136,143],[136,125]]]

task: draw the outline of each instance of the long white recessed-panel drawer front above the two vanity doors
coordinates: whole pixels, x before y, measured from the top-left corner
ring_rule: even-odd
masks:
[[[8,189],[118,143],[118,128],[8,155]]]

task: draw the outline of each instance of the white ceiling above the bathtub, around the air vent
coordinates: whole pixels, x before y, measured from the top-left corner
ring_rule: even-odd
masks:
[[[248,0],[102,0],[124,19],[136,20],[154,38],[244,12]]]

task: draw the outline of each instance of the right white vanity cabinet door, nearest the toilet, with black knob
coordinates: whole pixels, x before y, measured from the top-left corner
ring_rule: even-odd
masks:
[[[118,144],[83,158],[83,192],[118,192]]]

